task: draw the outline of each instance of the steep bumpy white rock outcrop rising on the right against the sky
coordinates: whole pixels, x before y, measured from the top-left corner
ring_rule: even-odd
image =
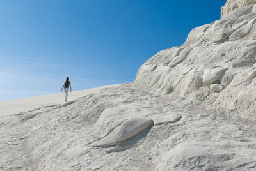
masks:
[[[239,110],[242,117],[253,115],[255,3],[227,1],[222,19],[193,29],[183,45],[148,59],[138,70],[134,85],[157,96],[204,100],[207,106]],[[228,10],[233,7],[236,9]],[[207,98],[205,92],[209,92]]]

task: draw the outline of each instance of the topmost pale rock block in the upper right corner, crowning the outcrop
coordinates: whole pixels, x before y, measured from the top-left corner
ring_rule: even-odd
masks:
[[[225,17],[236,8],[247,6],[250,4],[255,4],[256,0],[227,0],[225,6],[221,8],[221,18]]]

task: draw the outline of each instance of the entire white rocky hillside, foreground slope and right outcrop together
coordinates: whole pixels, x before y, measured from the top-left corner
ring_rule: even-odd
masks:
[[[0,169],[256,170],[255,3],[227,1],[134,82],[16,101],[0,119]]]

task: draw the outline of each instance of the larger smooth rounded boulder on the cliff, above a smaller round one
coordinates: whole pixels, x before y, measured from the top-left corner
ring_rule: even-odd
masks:
[[[219,80],[221,74],[227,71],[227,68],[222,68],[220,66],[211,67],[204,71],[203,74],[203,84],[205,87],[210,87],[210,85]]]

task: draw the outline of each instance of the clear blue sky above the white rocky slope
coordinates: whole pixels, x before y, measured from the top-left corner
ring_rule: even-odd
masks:
[[[131,82],[149,57],[220,19],[225,0],[0,1],[0,101]]]

